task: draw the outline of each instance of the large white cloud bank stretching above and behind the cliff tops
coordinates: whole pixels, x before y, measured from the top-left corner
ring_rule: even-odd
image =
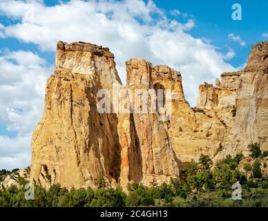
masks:
[[[36,1],[3,1],[0,12],[19,19],[4,27],[7,37],[37,44],[42,50],[55,50],[59,40],[108,46],[115,53],[123,82],[124,62],[131,57],[144,57],[153,64],[180,70],[187,86],[186,97],[193,105],[202,81],[213,81],[221,72],[234,70],[215,47],[184,32],[195,26],[193,19],[186,23],[169,20],[153,1],[77,0],[55,7]]]

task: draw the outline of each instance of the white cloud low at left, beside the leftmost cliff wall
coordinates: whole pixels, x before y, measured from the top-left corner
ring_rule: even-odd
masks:
[[[30,164],[30,137],[44,110],[44,90],[52,68],[28,51],[0,57],[0,124],[16,137],[0,136],[0,169]]]

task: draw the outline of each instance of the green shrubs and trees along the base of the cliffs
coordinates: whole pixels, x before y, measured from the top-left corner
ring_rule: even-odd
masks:
[[[249,146],[252,160],[240,165],[245,159],[242,153],[213,164],[207,155],[201,155],[198,162],[193,160],[180,177],[171,177],[169,183],[144,186],[128,183],[127,193],[120,186],[108,187],[101,177],[97,189],[66,189],[54,184],[46,190],[35,186],[35,200],[26,200],[26,189],[10,186],[1,187],[0,206],[268,206],[268,177],[262,175],[266,156],[258,151],[259,146]],[[263,163],[264,162],[264,163]],[[242,168],[242,169],[241,169]],[[11,174],[1,171],[1,176]],[[1,177],[0,176],[0,177]],[[21,184],[26,180],[20,179]],[[233,184],[242,187],[242,200],[233,200]]]

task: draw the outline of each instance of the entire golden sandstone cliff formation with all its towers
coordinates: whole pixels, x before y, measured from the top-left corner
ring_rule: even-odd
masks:
[[[30,180],[67,188],[96,186],[101,177],[111,186],[150,185],[178,177],[201,153],[218,160],[238,151],[247,155],[251,142],[268,148],[267,57],[267,42],[253,46],[245,70],[222,73],[216,86],[200,85],[191,108],[177,71],[130,59],[124,87],[108,48],[59,41],[44,116],[32,137]],[[117,102],[113,85],[125,91]],[[112,94],[111,112],[97,109],[100,89]],[[138,103],[144,96],[147,103]],[[145,108],[152,104],[155,109]],[[132,112],[114,111],[120,106]]]

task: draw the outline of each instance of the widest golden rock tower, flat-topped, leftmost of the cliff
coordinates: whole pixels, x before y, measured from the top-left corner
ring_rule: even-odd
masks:
[[[48,187],[115,185],[120,145],[115,114],[97,112],[97,90],[119,84],[113,54],[92,44],[57,44],[44,116],[32,136],[30,180]]]

